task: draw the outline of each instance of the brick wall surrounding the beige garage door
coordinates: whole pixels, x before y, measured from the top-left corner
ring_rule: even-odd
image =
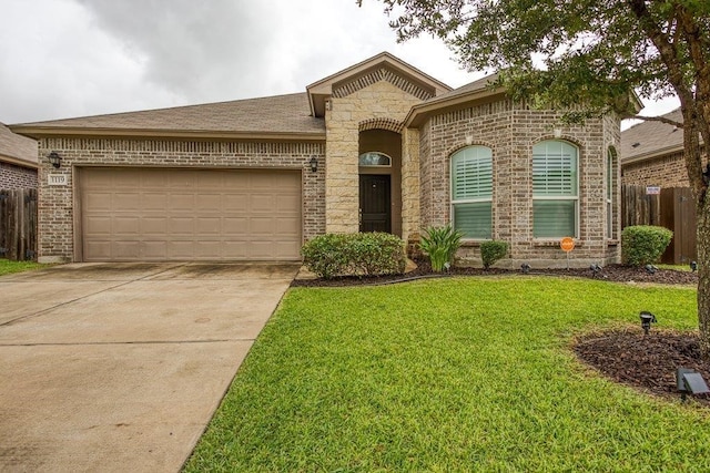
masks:
[[[193,142],[121,138],[42,138],[40,156],[55,151],[62,157],[59,169],[40,163],[39,260],[71,261],[74,258],[75,166],[146,166],[192,168],[302,169],[303,238],[325,232],[325,144]],[[311,171],[312,156],[318,171]],[[50,186],[48,174],[64,174],[67,186]]]

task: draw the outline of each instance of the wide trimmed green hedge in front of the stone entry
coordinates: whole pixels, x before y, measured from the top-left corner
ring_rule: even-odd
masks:
[[[385,233],[326,234],[301,248],[303,263],[322,278],[403,274],[404,241]]]

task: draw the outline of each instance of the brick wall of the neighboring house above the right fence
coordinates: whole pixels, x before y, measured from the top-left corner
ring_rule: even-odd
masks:
[[[621,166],[623,184],[637,186],[688,187],[688,169],[683,152]]]

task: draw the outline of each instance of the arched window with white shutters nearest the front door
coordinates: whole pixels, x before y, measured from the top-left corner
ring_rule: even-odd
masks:
[[[469,146],[452,156],[452,216],[464,238],[489,239],[493,228],[493,154]]]

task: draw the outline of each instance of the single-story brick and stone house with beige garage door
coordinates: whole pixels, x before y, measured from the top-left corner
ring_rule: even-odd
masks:
[[[39,140],[40,260],[298,260],[324,233],[465,232],[508,267],[619,260],[619,120],[562,125],[388,54],[305,93],[13,125]],[[59,168],[47,161],[61,157]],[[48,182],[53,179],[53,184]]]

